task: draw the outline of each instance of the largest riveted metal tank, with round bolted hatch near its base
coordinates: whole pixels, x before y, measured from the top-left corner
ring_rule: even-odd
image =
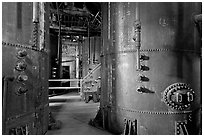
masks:
[[[201,3],[103,3],[101,112],[116,134],[200,134]]]

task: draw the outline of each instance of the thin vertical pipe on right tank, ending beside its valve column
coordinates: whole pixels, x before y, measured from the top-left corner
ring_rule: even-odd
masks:
[[[137,50],[137,58],[136,58],[136,69],[141,70],[140,65],[140,47],[141,47],[141,22],[140,22],[140,9],[139,9],[139,3],[136,3],[136,13],[135,13],[135,22],[134,22],[134,30],[135,35],[133,37],[133,40],[135,41],[135,46]]]

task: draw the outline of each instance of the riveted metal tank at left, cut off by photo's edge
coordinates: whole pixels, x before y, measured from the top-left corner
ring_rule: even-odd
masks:
[[[48,5],[2,3],[2,133],[48,128]]]

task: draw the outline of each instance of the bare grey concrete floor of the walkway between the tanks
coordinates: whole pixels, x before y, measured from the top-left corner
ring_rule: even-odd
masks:
[[[99,103],[81,101],[76,93],[50,97],[50,110],[56,120],[62,122],[60,129],[48,130],[47,135],[111,135],[111,133],[88,125],[97,113]]]

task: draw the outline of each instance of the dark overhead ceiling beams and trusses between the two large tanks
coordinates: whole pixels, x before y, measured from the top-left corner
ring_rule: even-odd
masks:
[[[50,32],[61,36],[100,36],[101,3],[51,2]]]

